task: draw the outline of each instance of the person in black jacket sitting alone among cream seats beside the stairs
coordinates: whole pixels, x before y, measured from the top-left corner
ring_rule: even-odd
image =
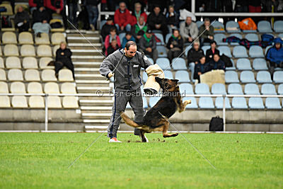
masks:
[[[56,60],[54,62],[56,77],[58,77],[59,70],[65,66],[67,69],[71,70],[73,78],[75,79],[74,64],[71,62],[71,54],[71,50],[67,48],[66,42],[61,42],[59,49],[56,51]]]

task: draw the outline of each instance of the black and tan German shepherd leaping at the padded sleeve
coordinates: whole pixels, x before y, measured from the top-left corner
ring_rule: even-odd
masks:
[[[170,118],[176,110],[178,110],[179,113],[183,112],[183,110],[185,110],[185,106],[191,103],[191,101],[182,101],[177,79],[160,79],[158,77],[155,79],[163,89],[163,96],[156,105],[154,105],[154,107],[151,108],[146,115],[144,115],[142,124],[138,124],[137,122],[129,119],[124,112],[120,113],[122,119],[127,125],[137,127],[141,130],[142,142],[146,142],[144,133],[154,131],[162,131],[163,137],[177,136],[178,133],[168,134],[169,122],[166,119]]]

